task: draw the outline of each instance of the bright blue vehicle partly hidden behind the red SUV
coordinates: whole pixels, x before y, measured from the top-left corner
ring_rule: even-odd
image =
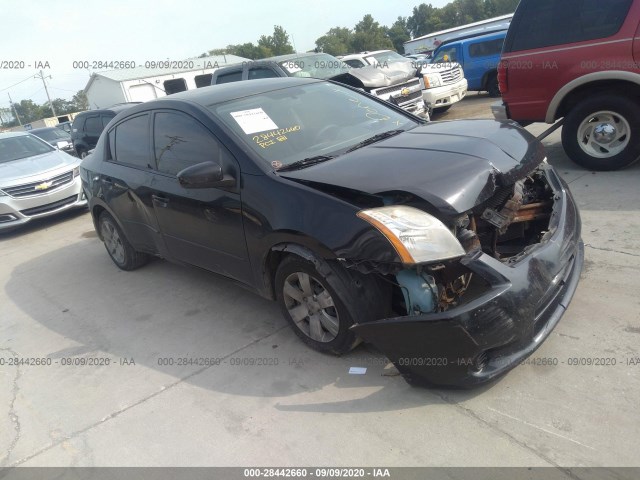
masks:
[[[506,36],[507,31],[500,30],[449,40],[433,52],[431,64],[457,62],[464,70],[469,90],[499,97],[498,64]]]

